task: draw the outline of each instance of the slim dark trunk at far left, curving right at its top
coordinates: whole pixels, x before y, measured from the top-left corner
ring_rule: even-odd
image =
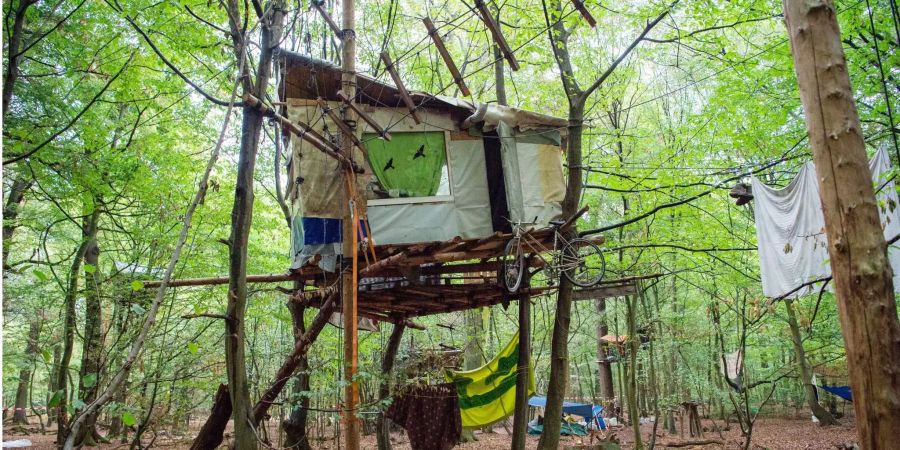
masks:
[[[66,411],[69,398],[69,364],[72,362],[72,350],[75,346],[75,301],[78,299],[78,279],[81,272],[81,264],[88,250],[88,244],[97,236],[97,224],[100,221],[100,209],[94,207],[93,211],[82,220],[81,243],[75,251],[72,259],[72,267],[69,269],[69,285],[66,289],[65,310],[63,311],[63,350],[57,372],[56,386],[59,394],[59,405],[56,415],[56,443],[62,446],[68,436],[69,416]]]

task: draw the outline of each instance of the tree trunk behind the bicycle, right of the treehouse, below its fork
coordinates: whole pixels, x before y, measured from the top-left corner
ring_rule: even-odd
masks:
[[[569,135],[566,159],[569,163],[569,178],[563,215],[573,216],[578,210],[581,198],[581,141],[584,129],[584,99],[570,100]],[[560,277],[559,293],[556,297],[556,314],[553,323],[553,337],[550,343],[550,379],[547,384],[547,408],[544,432],[538,448],[554,450],[559,446],[560,417],[562,403],[569,381],[569,322],[572,316],[573,285],[566,277]]]

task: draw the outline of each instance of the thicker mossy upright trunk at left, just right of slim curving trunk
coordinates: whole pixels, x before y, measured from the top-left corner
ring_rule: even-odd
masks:
[[[99,207],[99,202],[94,202]],[[78,372],[78,398],[86,404],[97,398],[103,369],[103,306],[100,301],[100,246],[94,233],[87,242],[84,253],[84,345],[81,353],[81,369]],[[92,380],[92,383],[85,382]],[[97,415],[87,417],[78,429],[76,445],[93,446],[97,433]]]

